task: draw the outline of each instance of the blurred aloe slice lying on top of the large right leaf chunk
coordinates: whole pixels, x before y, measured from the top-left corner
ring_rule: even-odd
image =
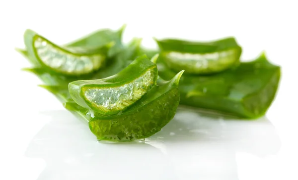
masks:
[[[239,64],[241,47],[234,38],[200,43],[182,40],[156,40],[161,61],[174,71],[187,74],[213,74]]]

